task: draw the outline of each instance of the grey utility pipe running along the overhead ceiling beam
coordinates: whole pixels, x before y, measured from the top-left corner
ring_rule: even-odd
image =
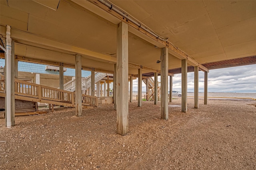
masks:
[[[121,10],[117,9],[116,7],[114,7],[112,4],[110,4],[109,2],[106,2],[105,0],[98,0],[100,3],[106,5],[108,8],[110,8],[110,10],[113,10],[114,12],[120,14],[121,16],[123,16],[124,18],[126,18],[127,20],[131,21],[132,23],[134,23],[135,25],[137,25],[139,28],[144,29],[145,31],[147,31],[148,33],[150,33],[151,35],[153,35],[154,37],[156,37],[157,39],[160,39],[162,41],[167,41],[168,38],[164,39],[162,37],[160,37],[159,35],[157,35],[156,33],[154,33],[153,31],[150,31],[149,29],[147,29],[146,27],[144,27],[143,25],[141,25],[139,22],[134,21],[132,18],[130,18],[129,16],[127,16],[126,14],[124,14]]]

